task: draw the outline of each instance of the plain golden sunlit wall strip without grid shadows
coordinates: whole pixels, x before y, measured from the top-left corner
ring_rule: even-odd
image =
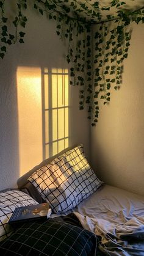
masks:
[[[17,95],[21,176],[43,159],[40,68],[18,67]]]

